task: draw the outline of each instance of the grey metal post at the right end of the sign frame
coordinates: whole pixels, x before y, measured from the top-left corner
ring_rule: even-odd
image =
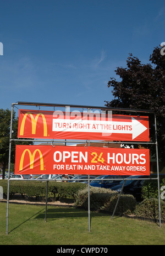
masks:
[[[158,185],[159,218],[160,218],[160,227],[161,227],[160,175],[159,175],[159,164],[158,164],[158,145],[157,145],[156,114],[155,114],[155,140],[156,140],[156,163],[157,163],[157,185]]]

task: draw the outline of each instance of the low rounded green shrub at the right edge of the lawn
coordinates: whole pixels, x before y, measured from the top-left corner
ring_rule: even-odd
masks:
[[[135,216],[150,218],[152,220],[159,219],[159,206],[157,198],[145,199],[134,210]],[[161,200],[161,220],[165,220],[165,202]]]

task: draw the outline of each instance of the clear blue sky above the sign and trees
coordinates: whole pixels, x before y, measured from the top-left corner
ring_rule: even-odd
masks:
[[[0,0],[0,108],[17,101],[105,106],[129,53],[149,63],[165,41],[165,3]]]

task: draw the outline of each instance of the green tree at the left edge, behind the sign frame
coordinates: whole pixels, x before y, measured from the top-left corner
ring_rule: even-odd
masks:
[[[9,161],[9,138],[10,138],[10,119],[11,111],[9,109],[0,109],[0,163],[3,166],[3,179],[5,169],[8,168]],[[17,139],[18,117],[15,117],[13,111],[12,139]],[[17,142],[17,144],[32,144],[32,142]],[[15,162],[15,142],[12,142],[11,163]]]

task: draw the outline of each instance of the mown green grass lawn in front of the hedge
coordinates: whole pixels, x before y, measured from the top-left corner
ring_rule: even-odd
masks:
[[[165,224],[133,220],[125,217],[91,212],[76,208],[14,205],[0,203],[0,244],[2,245],[164,245]]]

